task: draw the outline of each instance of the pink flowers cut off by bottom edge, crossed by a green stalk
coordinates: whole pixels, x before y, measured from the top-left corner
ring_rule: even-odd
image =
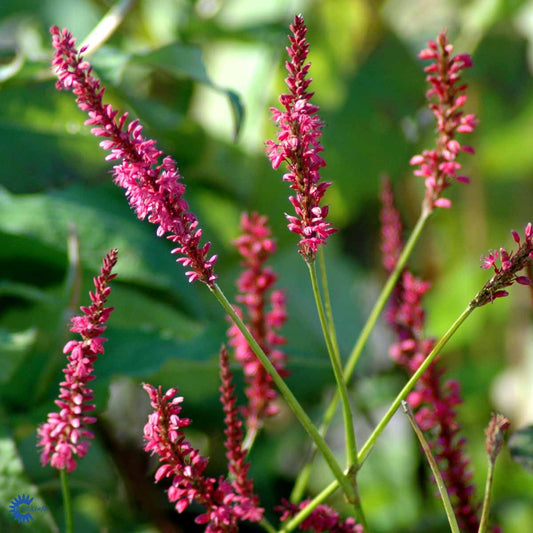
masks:
[[[282,500],[282,504],[276,508],[276,511],[281,513],[281,521],[284,522],[304,509],[308,503],[309,500],[305,500],[296,505],[288,500]],[[343,521],[339,514],[327,505],[318,505],[298,525],[298,529],[311,533],[363,533],[363,527],[356,524],[353,518],[350,517]]]

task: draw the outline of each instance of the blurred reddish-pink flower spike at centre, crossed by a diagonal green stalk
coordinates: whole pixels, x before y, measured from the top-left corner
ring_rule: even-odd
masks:
[[[265,265],[276,251],[271,237],[268,219],[257,213],[241,217],[241,236],[234,244],[243,258],[243,272],[237,280],[237,301],[244,307],[244,321],[254,339],[272,361],[278,373],[285,377],[285,354],[279,347],[286,343],[279,330],[287,320],[285,295],[281,290],[272,290],[278,277]],[[242,314],[242,313],[241,313]],[[239,328],[232,325],[228,331],[229,345],[241,364],[246,379],[248,405],[244,409],[248,428],[256,430],[264,418],[275,415],[274,403],[278,393],[270,374],[250,349]]]

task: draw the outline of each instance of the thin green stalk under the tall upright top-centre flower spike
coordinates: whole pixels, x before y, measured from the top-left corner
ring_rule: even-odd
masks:
[[[313,287],[313,294],[315,296],[316,307],[318,310],[318,316],[320,318],[320,325],[322,327],[322,333],[324,334],[324,340],[328,349],[329,358],[331,360],[331,366],[333,367],[333,373],[335,374],[335,381],[337,382],[337,391],[341,397],[342,414],[344,417],[344,434],[346,440],[346,460],[348,468],[357,468],[357,444],[355,441],[355,432],[353,428],[353,415],[352,408],[350,406],[350,400],[348,398],[348,389],[344,382],[342,375],[342,365],[338,353],[335,353],[333,349],[333,343],[330,338],[330,329],[326,322],[326,315],[324,313],[324,306],[322,305],[322,298],[318,288],[318,280],[316,277],[315,264],[307,263],[309,268],[309,275],[311,276],[311,285]]]

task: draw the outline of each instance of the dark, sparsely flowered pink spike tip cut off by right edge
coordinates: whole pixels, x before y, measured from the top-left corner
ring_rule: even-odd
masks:
[[[471,307],[481,307],[496,298],[508,296],[505,287],[510,287],[513,283],[521,285],[532,285],[533,282],[527,276],[517,274],[531,265],[533,260],[533,226],[529,222],[524,230],[524,241],[516,231],[511,231],[513,240],[518,244],[516,252],[508,252],[505,248],[493,250],[487,257],[483,258],[481,268],[493,268],[494,275],[485,283],[476,297],[470,302]],[[497,263],[501,266],[498,266]]]

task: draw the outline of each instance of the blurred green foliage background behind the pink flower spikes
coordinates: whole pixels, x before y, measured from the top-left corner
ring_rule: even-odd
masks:
[[[53,469],[39,466],[35,429],[54,407],[69,317],[87,302],[91,278],[112,247],[120,250],[110,301],[116,309],[94,382],[104,414],[88,457],[71,476],[76,531],[201,530],[191,524],[194,515],[178,516],[162,488],[153,486],[154,464],[141,451],[148,412],[142,381],[180,388],[193,419],[191,439],[211,456],[213,474],[224,471],[217,398],[224,317],[205,287],[187,283],[169,243],[130,212],[111,184],[98,141],[83,126],[84,115],[70,93],[55,90],[48,67],[51,25],[68,27],[81,42],[112,6],[107,0],[0,3],[1,531],[23,529],[7,512],[21,493],[51,510],[35,513],[32,530],[63,527],[59,481]],[[146,135],[178,161],[230,297],[239,272],[231,241],[240,213],[269,216],[279,245],[273,266],[288,295],[289,384],[318,420],[333,377],[305,266],[286,229],[287,187],[264,155],[265,139],[275,135],[268,109],[285,90],[288,25],[299,12],[309,27],[312,89],[325,122],[323,175],[334,184],[326,202],[340,231],[328,243],[327,260],[346,354],[384,280],[380,176],[393,180],[407,229],[419,213],[423,183],[409,159],[431,147],[434,124],[417,52],[443,27],[457,52],[472,53],[466,110],[481,122],[465,139],[476,155],[462,158],[472,183],[450,190],[453,208],[433,217],[411,260],[413,271],[434,283],[426,300],[428,335],[441,335],[486,280],[481,255],[511,247],[509,230],[521,232],[531,220],[533,4],[139,0],[91,58],[107,101],[139,117]],[[69,259],[69,231],[78,235],[79,262]],[[477,494],[491,410],[510,417],[513,430],[533,421],[532,295],[524,287],[511,293],[476,311],[445,354],[447,377],[463,390],[459,420]],[[354,402],[370,420],[405,380],[387,357],[391,340],[380,324],[357,373]],[[356,426],[362,442],[368,418],[358,416]],[[251,471],[269,517],[290,492],[305,442],[282,410],[254,447]],[[338,424],[330,442],[341,454]],[[406,421],[397,416],[361,472],[373,531],[448,530],[424,468]],[[329,479],[319,462],[311,490]],[[508,533],[526,533],[533,523],[533,477],[508,451],[497,467],[493,516]]]

